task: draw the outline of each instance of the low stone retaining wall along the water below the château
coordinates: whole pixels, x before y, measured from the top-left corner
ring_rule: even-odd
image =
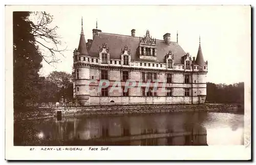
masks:
[[[112,115],[160,112],[238,112],[236,104],[197,104],[197,105],[104,105],[104,106],[58,106],[54,110],[61,111],[62,116],[73,115]]]

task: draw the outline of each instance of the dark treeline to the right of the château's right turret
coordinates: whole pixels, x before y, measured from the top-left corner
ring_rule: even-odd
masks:
[[[206,84],[206,100],[212,103],[244,103],[244,82],[232,85]]]

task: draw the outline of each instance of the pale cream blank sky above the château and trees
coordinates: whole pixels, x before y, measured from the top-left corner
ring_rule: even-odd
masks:
[[[104,33],[144,36],[163,39],[170,33],[171,41],[191,57],[197,56],[199,36],[204,60],[208,61],[207,81],[233,84],[250,77],[251,9],[249,6],[47,6],[40,8],[53,15],[62,46],[61,62],[54,66],[42,62],[41,75],[51,71],[72,72],[73,51],[78,47],[81,17],[86,40],[92,39],[92,29]],[[121,49],[121,48],[120,48]]]

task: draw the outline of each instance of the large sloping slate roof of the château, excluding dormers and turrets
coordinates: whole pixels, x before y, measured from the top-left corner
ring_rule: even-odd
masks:
[[[174,54],[174,63],[182,64],[181,57],[185,55],[185,51],[176,42],[171,42],[167,45],[163,40],[156,40],[157,46],[157,60],[141,60],[137,54],[137,48],[139,46],[139,37],[125,36],[119,34],[100,33],[93,39],[89,54],[91,57],[99,57],[99,47],[106,43],[106,47],[110,48],[110,58],[120,59],[121,48],[125,45],[128,49],[131,49],[131,60],[133,61],[152,61],[152,62],[164,62],[164,56],[169,50],[172,50]]]

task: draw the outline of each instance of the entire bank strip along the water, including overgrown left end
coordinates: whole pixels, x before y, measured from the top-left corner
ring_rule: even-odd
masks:
[[[57,106],[51,108],[28,107],[26,111],[14,113],[14,119],[31,120],[64,116],[118,115],[169,112],[216,112],[243,114],[239,104],[152,104],[152,105],[97,105],[97,106]]]

